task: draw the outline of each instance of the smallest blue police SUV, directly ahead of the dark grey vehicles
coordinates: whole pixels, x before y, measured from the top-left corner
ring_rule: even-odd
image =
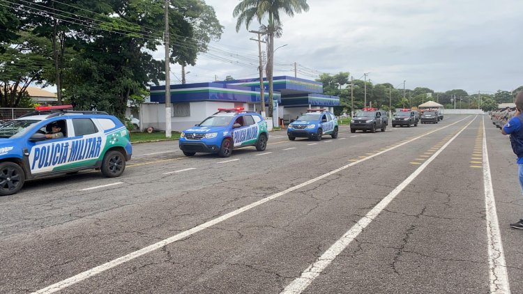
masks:
[[[303,137],[320,141],[325,134],[330,134],[333,139],[338,138],[338,118],[325,109],[307,109],[287,127],[289,140]]]

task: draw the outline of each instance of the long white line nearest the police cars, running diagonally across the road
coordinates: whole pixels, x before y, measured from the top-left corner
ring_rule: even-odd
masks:
[[[422,134],[420,135],[419,137],[416,137],[416,139],[420,139],[420,138],[423,138],[425,136],[427,136],[427,134],[432,134],[433,132],[438,132],[439,130],[444,130],[446,127],[450,127],[451,125],[455,125],[456,123],[460,123],[461,121],[464,121],[466,120],[467,118],[469,118],[470,116],[467,116],[466,118],[463,118],[462,120],[460,121],[457,121],[455,123],[451,123],[450,125],[446,125],[445,127],[441,127],[440,129],[437,129],[437,130],[433,130],[431,132],[427,132],[426,134]],[[411,141],[414,141],[416,139],[412,139]],[[409,142],[411,142],[409,141]],[[404,144],[407,144],[409,142],[406,142]],[[222,215],[221,217],[217,217],[215,219],[211,219],[209,222],[205,222],[204,224],[200,224],[198,226],[195,226],[193,227],[192,229],[189,229],[187,231],[183,231],[179,234],[176,234],[176,235],[173,235],[172,237],[169,237],[165,240],[162,240],[160,242],[157,242],[153,245],[149,245],[147,247],[144,247],[142,249],[139,249],[135,252],[131,252],[130,254],[127,254],[125,256],[121,256],[119,258],[116,258],[112,261],[109,261],[107,263],[104,263],[103,265],[98,265],[97,267],[95,268],[91,268],[89,270],[86,270],[84,272],[80,272],[79,274],[76,274],[75,276],[73,277],[69,277],[68,279],[64,279],[62,281],[59,281],[58,283],[55,283],[55,284],[52,284],[50,286],[47,286],[45,288],[42,288],[34,293],[37,293],[37,294],[44,294],[44,293],[54,293],[54,292],[57,292],[57,291],[61,291],[65,288],[68,288],[69,286],[73,286],[74,284],[77,284],[78,282],[80,281],[83,281],[84,279],[89,279],[90,277],[93,277],[93,276],[96,276],[97,274],[100,274],[101,272],[105,272],[105,270],[109,270],[111,268],[114,268],[118,265],[121,265],[123,263],[126,263],[127,261],[131,261],[132,259],[135,259],[139,256],[142,256],[144,254],[148,254],[149,252],[153,252],[154,250],[156,249],[160,249],[166,245],[169,245],[173,242],[176,242],[178,240],[182,240],[183,238],[187,238],[188,236],[192,235],[192,234],[195,234],[195,233],[198,233],[199,231],[203,231],[204,229],[207,229],[211,226],[214,226],[215,224],[219,224],[220,222],[223,222],[231,217],[234,217],[236,215],[239,215],[245,211],[248,211],[252,208],[255,208],[257,206],[260,206],[261,204],[264,204],[268,201],[271,201],[273,199],[276,199],[282,195],[285,195],[285,194],[288,194],[290,192],[293,192],[295,191],[296,189],[300,189],[301,187],[305,187],[307,185],[310,185],[312,183],[315,183],[319,180],[322,180],[328,176],[331,176],[335,173],[338,173],[340,171],[343,171],[344,169],[347,169],[349,167],[354,167],[354,165],[356,164],[359,164],[361,162],[364,162],[366,160],[370,160],[371,158],[373,157],[376,157],[378,155],[381,155],[381,154],[384,154],[388,151],[391,151],[391,150],[394,150],[395,148],[399,147],[399,146],[402,146],[404,144],[399,144],[397,146],[393,146],[391,148],[388,148],[387,150],[383,150],[379,153],[376,153],[374,155],[371,155],[369,157],[365,157],[361,160],[357,160],[356,162],[351,162],[350,164],[347,164],[347,165],[344,165],[343,167],[340,167],[338,169],[335,169],[333,171],[330,171],[328,173],[325,173],[321,176],[318,176],[317,178],[313,178],[312,180],[308,180],[307,182],[304,182],[304,183],[301,183],[299,185],[296,185],[294,187],[290,187],[289,189],[285,189],[283,190],[282,192],[278,192],[276,194],[273,194],[271,196],[268,196],[264,199],[261,199],[259,201],[256,201],[254,203],[250,203],[249,205],[247,206],[243,206],[242,208],[239,208],[238,210],[234,210],[232,212],[229,212],[225,215]],[[427,162],[425,162],[426,164]]]

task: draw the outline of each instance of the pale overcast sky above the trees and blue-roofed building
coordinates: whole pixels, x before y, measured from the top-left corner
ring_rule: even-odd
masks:
[[[245,25],[236,33],[239,0],[206,0],[225,26],[209,53],[187,70],[187,82],[257,77],[257,43]],[[511,91],[523,85],[522,0],[308,0],[310,10],[282,17],[275,39],[275,75],[314,79],[317,72],[350,72],[354,79],[396,88],[469,93]],[[258,29],[255,21],[250,29]],[[160,54],[160,52],[156,52]],[[155,54],[155,56],[156,56]],[[215,55],[211,56],[215,58]],[[236,61],[243,63],[238,65]],[[252,64],[252,68],[250,65]],[[179,84],[180,68],[172,65]]]

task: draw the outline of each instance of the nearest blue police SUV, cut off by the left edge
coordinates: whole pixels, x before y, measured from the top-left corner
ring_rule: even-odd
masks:
[[[25,180],[57,173],[100,169],[109,178],[121,176],[132,155],[126,127],[103,111],[72,108],[36,107],[0,126],[0,196],[20,191]],[[61,135],[48,139],[54,124]]]

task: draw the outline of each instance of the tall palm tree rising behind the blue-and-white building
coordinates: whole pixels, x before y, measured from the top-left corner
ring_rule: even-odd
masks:
[[[307,12],[309,5],[307,0],[241,0],[232,12],[233,17],[238,17],[236,21],[236,32],[240,31],[241,24],[245,22],[245,28],[254,20],[261,20],[268,17],[267,32],[267,80],[268,80],[268,116],[273,116],[273,54],[274,54],[274,37],[278,29],[281,30],[280,10],[283,10],[290,17],[294,13]],[[278,38],[278,37],[277,37]],[[261,98],[263,100],[263,98]]]

